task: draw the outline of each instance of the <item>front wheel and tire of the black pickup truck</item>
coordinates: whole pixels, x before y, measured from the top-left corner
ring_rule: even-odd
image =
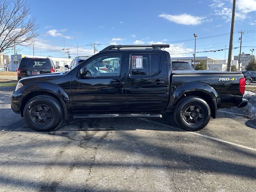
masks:
[[[62,123],[64,111],[56,98],[39,95],[26,103],[23,115],[30,128],[46,132],[54,130]]]

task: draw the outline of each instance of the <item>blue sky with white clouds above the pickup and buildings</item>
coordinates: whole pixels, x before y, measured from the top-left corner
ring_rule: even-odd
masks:
[[[64,41],[72,58],[77,56],[77,44],[78,55],[92,55],[88,46],[92,42],[99,44],[98,50],[108,44],[170,44],[172,57],[192,56],[194,33],[198,52],[229,44],[231,0],[28,0],[28,4],[39,24],[34,43],[38,56],[63,57]],[[238,30],[245,31],[242,52],[251,53],[256,49],[256,0],[237,0],[233,47],[240,46]],[[32,46],[17,50],[33,53]],[[233,50],[233,56],[238,53],[239,48]],[[225,51],[196,56],[224,59]]]

